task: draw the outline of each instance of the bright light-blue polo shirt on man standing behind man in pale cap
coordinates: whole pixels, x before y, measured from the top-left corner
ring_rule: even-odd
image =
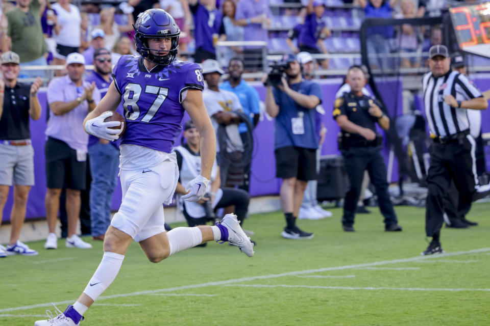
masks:
[[[253,125],[254,115],[260,114],[259,93],[257,93],[255,88],[247,84],[247,82],[243,79],[240,81],[240,84],[238,84],[236,87],[232,87],[230,82],[227,81],[221,84],[219,88],[236,94],[236,96],[240,100],[243,113],[250,117],[250,121],[252,122]],[[247,125],[244,123],[240,123],[238,126],[238,131],[240,131],[240,133],[247,132]]]

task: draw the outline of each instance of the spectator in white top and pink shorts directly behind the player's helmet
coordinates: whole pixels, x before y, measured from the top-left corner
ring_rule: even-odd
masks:
[[[189,26],[192,22],[189,3],[187,0],[160,0],[160,8],[168,12],[179,26],[179,52],[186,52],[190,42]]]

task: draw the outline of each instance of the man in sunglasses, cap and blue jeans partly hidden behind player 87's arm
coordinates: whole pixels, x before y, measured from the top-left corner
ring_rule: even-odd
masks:
[[[93,53],[94,71],[85,79],[88,83],[95,83],[101,92],[106,95],[112,82],[111,53],[104,48],[95,49]],[[122,114],[122,106],[117,112]],[[104,234],[111,223],[112,193],[117,181],[119,166],[119,143],[89,135],[88,153],[90,156],[90,172],[92,183],[90,185],[90,220],[92,237],[94,240],[104,240]]]

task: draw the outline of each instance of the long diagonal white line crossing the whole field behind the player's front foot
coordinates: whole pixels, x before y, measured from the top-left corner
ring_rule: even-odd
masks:
[[[474,249],[474,250],[468,250],[468,251],[458,251],[458,252],[454,252],[454,253],[446,253],[446,254],[438,254],[438,255],[430,255],[430,256],[415,256],[415,257],[411,257],[411,258],[383,260],[383,261],[376,261],[376,262],[364,263],[364,264],[297,270],[297,271],[289,271],[287,273],[281,273],[281,274],[252,276],[252,277],[244,277],[244,278],[240,278],[240,279],[231,279],[231,280],[208,282],[208,283],[201,283],[201,284],[189,284],[189,285],[183,285],[183,286],[169,287],[169,288],[165,288],[165,289],[137,291],[137,292],[131,292],[131,293],[122,293],[122,294],[101,296],[101,297],[99,297],[99,300],[113,299],[113,298],[127,297],[127,296],[136,296],[136,295],[143,295],[143,294],[151,294],[151,293],[160,293],[160,292],[174,292],[174,291],[179,291],[179,290],[197,289],[197,288],[207,287],[207,286],[225,285],[225,284],[241,283],[241,282],[263,280],[263,279],[274,279],[274,278],[279,278],[279,277],[283,277],[283,276],[296,276],[296,275],[305,275],[305,274],[313,274],[313,273],[323,273],[325,271],[331,271],[331,270],[345,270],[345,269],[353,269],[353,268],[361,268],[361,267],[380,266],[380,265],[386,265],[386,264],[407,263],[407,262],[413,262],[413,261],[422,261],[422,260],[427,260],[427,259],[436,259],[436,258],[452,257],[452,256],[460,256],[460,255],[468,255],[468,254],[476,254],[476,253],[484,253],[484,252],[490,252],[490,248],[481,248],[481,249]],[[72,304],[74,302],[75,302],[75,298],[73,298],[72,300],[55,302],[55,305]],[[5,309],[0,309],[0,313],[10,312],[10,311],[18,311],[18,310],[28,310],[28,309],[48,307],[48,306],[51,306],[51,303],[42,303],[42,304],[37,304],[37,305],[5,308]]]

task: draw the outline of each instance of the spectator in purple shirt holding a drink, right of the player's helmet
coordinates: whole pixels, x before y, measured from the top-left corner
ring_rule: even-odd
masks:
[[[215,60],[222,13],[216,9],[214,0],[189,0],[189,8],[194,18],[194,62]]]

